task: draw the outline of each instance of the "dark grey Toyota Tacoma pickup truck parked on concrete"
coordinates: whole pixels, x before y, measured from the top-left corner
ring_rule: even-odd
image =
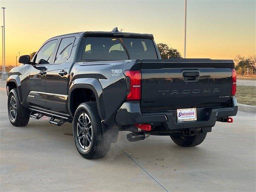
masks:
[[[11,124],[42,116],[73,122],[76,148],[88,159],[105,156],[119,131],[131,142],[161,135],[196,146],[238,110],[232,60],[162,60],[152,34],[56,36],[19,62],[6,83]]]

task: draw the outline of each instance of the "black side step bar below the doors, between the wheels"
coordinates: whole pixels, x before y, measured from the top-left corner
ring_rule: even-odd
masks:
[[[29,108],[31,110],[30,117],[40,119],[42,116],[50,117],[49,123],[55,124],[58,126],[63,125],[66,122],[72,123],[72,119],[69,117],[57,115],[54,113],[46,112],[39,109]]]

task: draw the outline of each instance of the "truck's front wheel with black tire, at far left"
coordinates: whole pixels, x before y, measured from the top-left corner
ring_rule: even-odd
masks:
[[[12,89],[8,96],[7,108],[9,120],[16,127],[26,126],[29,121],[29,117],[22,117],[22,107],[17,89]],[[26,109],[24,108],[24,110]]]

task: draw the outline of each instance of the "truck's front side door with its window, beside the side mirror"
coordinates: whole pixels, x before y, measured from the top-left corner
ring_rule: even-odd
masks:
[[[46,42],[34,56],[34,64],[28,69],[30,91],[27,97],[28,105],[46,108],[45,80],[48,67],[53,62],[54,51],[58,39]]]

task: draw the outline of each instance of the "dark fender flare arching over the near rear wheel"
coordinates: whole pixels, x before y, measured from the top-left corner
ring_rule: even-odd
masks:
[[[74,80],[69,88],[68,92],[68,110],[70,112],[70,115],[72,116],[72,112],[70,109],[70,98],[71,93],[77,88],[87,88],[94,92],[97,102],[97,108],[99,116],[102,120],[105,119],[105,108],[104,108],[104,98],[103,98],[103,90],[100,82],[97,79],[94,78],[79,78]]]

